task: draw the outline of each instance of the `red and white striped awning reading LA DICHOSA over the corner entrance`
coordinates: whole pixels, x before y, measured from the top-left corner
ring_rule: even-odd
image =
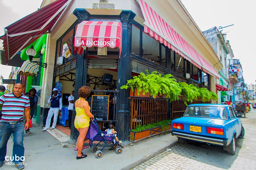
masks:
[[[122,23],[116,21],[83,21],[78,24],[75,34],[74,51],[82,54],[81,47],[122,48]],[[79,49],[80,48],[80,49]]]

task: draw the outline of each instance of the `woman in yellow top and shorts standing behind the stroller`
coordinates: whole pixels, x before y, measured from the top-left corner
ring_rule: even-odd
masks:
[[[82,150],[84,146],[84,139],[89,129],[90,118],[94,118],[89,109],[89,104],[85,100],[91,93],[91,89],[88,86],[82,86],[78,90],[79,99],[75,102],[76,118],[75,118],[75,128],[79,132],[79,136],[76,142],[78,148],[78,153],[76,159],[81,159],[87,157],[84,155]]]

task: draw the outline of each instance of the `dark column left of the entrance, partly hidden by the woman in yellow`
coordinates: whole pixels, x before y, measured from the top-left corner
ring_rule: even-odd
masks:
[[[85,9],[77,8],[73,12],[76,17],[78,17],[78,22],[82,22],[84,20],[89,20],[90,13],[88,13]],[[84,50],[82,56],[78,55],[76,58],[76,79],[75,79],[75,95],[74,101],[78,99],[78,89],[81,86],[86,85],[87,79],[87,52]],[[70,140],[71,142],[75,142],[78,138],[79,132],[74,126],[76,112],[75,109],[72,110],[72,121],[71,121],[71,132],[70,132]]]

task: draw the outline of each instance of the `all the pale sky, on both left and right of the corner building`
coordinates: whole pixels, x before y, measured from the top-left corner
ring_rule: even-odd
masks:
[[[161,0],[159,0],[161,1]],[[216,26],[225,27],[236,59],[240,60],[246,83],[254,83],[255,72],[255,28],[256,1],[244,0],[181,0],[201,31]],[[0,0],[0,35],[4,27],[40,8],[42,0]],[[10,66],[0,65],[0,74],[9,77]]]

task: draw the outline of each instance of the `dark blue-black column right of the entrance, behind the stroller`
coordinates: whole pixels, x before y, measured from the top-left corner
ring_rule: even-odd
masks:
[[[120,14],[123,33],[122,33],[122,53],[118,63],[118,81],[117,88],[127,83],[131,79],[131,48],[132,48],[132,21],[136,14],[131,11],[123,10]],[[120,90],[117,105],[117,118],[118,118],[118,137],[125,143],[128,143],[130,135],[130,89]]]

